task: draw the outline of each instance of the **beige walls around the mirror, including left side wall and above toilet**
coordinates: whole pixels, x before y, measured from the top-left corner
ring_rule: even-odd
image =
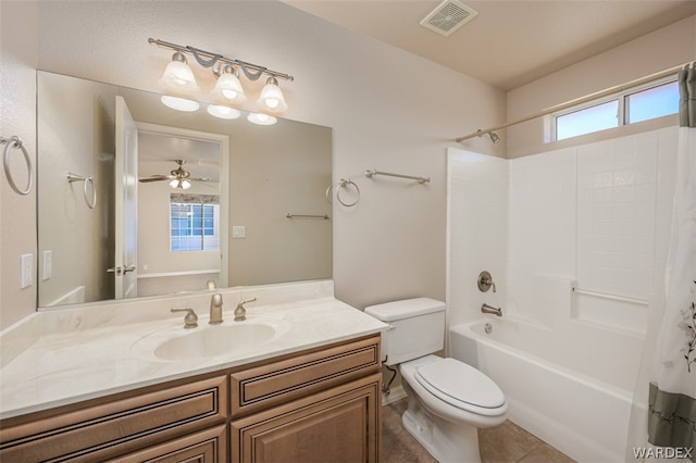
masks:
[[[333,127],[334,183],[350,177],[362,192],[355,208],[334,209],[336,296],[358,308],[445,298],[445,150],[462,133],[504,121],[502,91],[276,1],[47,1],[38,25],[32,3],[3,1],[0,9],[2,70],[13,92],[2,98],[3,132],[15,129],[5,123],[16,124],[32,153],[35,67],[158,90],[171,53],[149,46],[152,37],[294,75],[294,83],[282,83],[286,116]],[[18,57],[5,57],[20,45]],[[210,73],[194,67],[199,85],[212,88]],[[21,117],[8,114],[5,104],[23,111]],[[497,155],[504,149],[483,139],[469,148]],[[369,179],[366,168],[431,176],[432,183]],[[7,326],[35,306],[36,286],[17,288],[16,262],[20,253],[35,252],[36,236],[27,212],[34,199],[7,193],[4,183],[2,189],[0,323]],[[16,221],[10,232],[5,216]]]

